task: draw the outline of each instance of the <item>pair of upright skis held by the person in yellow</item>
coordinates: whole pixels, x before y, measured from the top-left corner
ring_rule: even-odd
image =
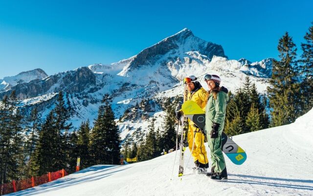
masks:
[[[188,99],[188,89],[187,85],[184,85],[184,93],[183,93],[183,102],[187,101]],[[181,131],[181,136],[180,136],[180,143],[179,143],[179,148],[180,148],[180,157],[179,157],[179,173],[178,176],[182,176],[184,173],[184,152],[187,146],[187,132],[188,132],[188,118],[186,115],[183,115],[183,127]]]

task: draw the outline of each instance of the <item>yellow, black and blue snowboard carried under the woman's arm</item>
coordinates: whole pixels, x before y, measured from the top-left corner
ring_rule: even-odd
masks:
[[[199,128],[204,130],[205,113],[194,101],[187,100],[181,106],[181,111]],[[241,165],[246,161],[246,152],[232,141],[224,132],[222,133],[222,150],[225,155],[236,165]]]

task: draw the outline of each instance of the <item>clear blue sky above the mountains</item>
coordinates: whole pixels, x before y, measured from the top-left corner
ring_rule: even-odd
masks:
[[[301,52],[312,0],[0,0],[0,78],[109,64],[189,28],[229,59],[278,57],[288,31]]]

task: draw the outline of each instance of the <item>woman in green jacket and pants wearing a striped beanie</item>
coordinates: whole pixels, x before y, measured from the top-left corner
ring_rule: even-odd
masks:
[[[222,151],[222,132],[224,129],[226,101],[228,90],[220,87],[218,75],[206,74],[204,81],[209,87],[209,95],[205,107],[205,131],[211,152],[212,168],[207,176],[211,179],[227,179],[225,159]]]

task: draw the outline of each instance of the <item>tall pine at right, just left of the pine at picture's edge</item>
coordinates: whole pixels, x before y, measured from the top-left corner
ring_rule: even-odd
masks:
[[[296,84],[296,46],[288,32],[279,40],[280,61],[273,60],[273,71],[268,87],[272,126],[292,123],[299,115],[297,100],[300,89]]]

